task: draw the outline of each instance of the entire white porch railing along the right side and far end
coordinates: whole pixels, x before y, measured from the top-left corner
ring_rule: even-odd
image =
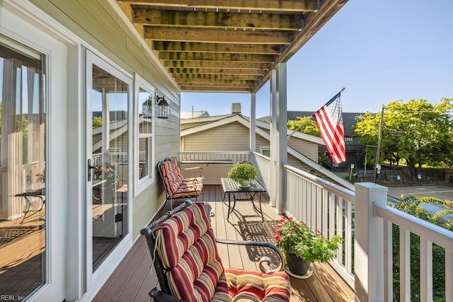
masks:
[[[181,160],[249,161],[248,152],[181,152]],[[270,158],[253,153],[270,189]],[[420,301],[432,301],[432,245],[445,248],[445,301],[453,301],[453,233],[387,206],[387,188],[355,184],[355,191],[285,165],[287,214],[330,238],[343,237],[331,265],[355,290],[355,301],[393,301],[392,225],[400,228],[400,301],[411,301],[410,236],[420,236]],[[269,192],[272,194],[272,192]],[[412,269],[414,269],[412,267]]]

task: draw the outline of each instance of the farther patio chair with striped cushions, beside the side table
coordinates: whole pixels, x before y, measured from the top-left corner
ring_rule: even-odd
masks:
[[[193,167],[181,169],[176,157],[166,158],[164,161],[159,161],[157,164],[159,174],[164,182],[166,192],[166,201],[170,199],[171,209],[173,209],[173,199],[185,199],[195,197],[195,202],[198,196],[203,192],[203,182],[205,178],[202,176],[201,167]],[[197,178],[184,178],[181,170],[197,169]]]

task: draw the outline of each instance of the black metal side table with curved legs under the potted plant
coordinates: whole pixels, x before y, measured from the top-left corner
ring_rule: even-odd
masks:
[[[251,180],[250,187],[239,187],[239,184],[232,180],[231,178],[221,178],[222,182],[222,189],[224,190],[224,198],[228,196],[228,215],[226,219],[229,219],[229,214],[234,211],[234,207],[236,207],[236,200],[250,200],[253,204],[253,209],[261,214],[261,219],[264,220],[263,210],[261,209],[261,194],[266,192],[265,188],[260,185],[257,180]],[[236,194],[245,193],[246,198],[239,198],[236,197]],[[255,196],[259,194],[259,208],[255,204]],[[233,199],[233,206],[231,207],[231,199]]]

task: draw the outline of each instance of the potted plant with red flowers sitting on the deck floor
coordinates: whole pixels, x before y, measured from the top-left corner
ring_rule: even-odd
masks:
[[[342,238],[333,235],[329,240],[320,231],[314,233],[302,221],[282,218],[275,226],[276,245],[286,258],[289,272],[296,276],[306,276],[310,263],[328,262],[342,242]]]

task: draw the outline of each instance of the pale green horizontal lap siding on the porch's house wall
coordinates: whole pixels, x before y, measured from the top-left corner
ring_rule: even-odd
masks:
[[[30,0],[30,2],[91,45],[96,52],[108,57],[120,69],[124,69],[131,76],[134,73],[139,74],[156,88],[156,93],[166,96],[171,107],[170,117],[168,120],[155,119],[155,160],[157,162],[168,155],[178,155],[180,112],[178,88],[165,76],[142,42],[125,25],[108,1]],[[93,50],[91,47],[88,49]],[[132,121],[132,117],[130,120]],[[133,238],[139,235],[139,229],[147,225],[151,216],[165,200],[157,171],[155,179],[154,185],[134,197],[132,201]]]

